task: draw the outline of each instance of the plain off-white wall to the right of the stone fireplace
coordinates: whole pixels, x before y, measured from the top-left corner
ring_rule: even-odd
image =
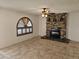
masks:
[[[79,12],[71,12],[68,17],[68,38],[79,41]]]

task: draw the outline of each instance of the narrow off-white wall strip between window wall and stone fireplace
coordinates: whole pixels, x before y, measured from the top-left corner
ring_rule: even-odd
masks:
[[[39,35],[46,35],[46,18],[41,16],[39,17]]]

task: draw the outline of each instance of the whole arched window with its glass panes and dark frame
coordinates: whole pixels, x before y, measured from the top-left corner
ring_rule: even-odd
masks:
[[[33,32],[32,21],[28,17],[22,17],[17,23],[17,36],[30,34]]]

